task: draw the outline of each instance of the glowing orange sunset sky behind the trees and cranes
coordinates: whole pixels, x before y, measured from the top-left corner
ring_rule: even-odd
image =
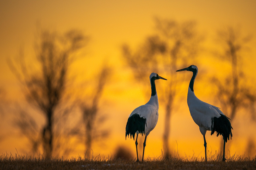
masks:
[[[207,35],[204,46],[209,48],[214,44],[215,31],[224,26],[240,26],[244,33],[255,36],[255,9],[256,1],[254,0],[227,0],[224,2],[221,0],[0,1],[0,87],[6,90],[6,98],[8,100],[13,100],[14,94],[19,93],[19,87],[8,68],[6,58],[17,56],[20,47],[24,47],[28,58],[34,54],[33,45],[37,23],[61,33],[69,29],[80,29],[90,36],[89,45],[86,51],[83,52],[88,58],[84,62],[77,62],[77,70],[73,71],[80,74],[81,79],[83,79],[84,74],[92,77],[105,58],[109,59],[109,63],[115,71],[112,78],[114,83],[111,84],[112,87],[109,85],[104,93],[104,101],[107,102],[103,102],[105,105],[104,112],[109,114],[107,125],[113,126],[111,128],[113,140],[108,144],[108,147],[99,149],[94,146],[94,150],[96,153],[110,154],[110,152],[114,152],[116,145],[126,145],[130,146],[132,151],[135,151],[134,141],[130,139],[125,141],[125,124],[132,110],[145,104],[145,99],[140,89],[141,86],[130,80],[130,71],[124,67],[120,48],[122,43],[128,43],[132,47],[136,47],[136,45],[143,42],[147,35],[153,33],[153,18],[157,16],[177,21],[195,20],[198,24],[198,30]],[[246,62],[244,64],[250,63],[247,65],[246,71],[252,75],[250,71],[255,64],[255,57],[253,57],[256,54],[255,38],[253,38],[249,46],[251,47],[251,57],[248,58],[251,61],[248,62],[245,59]],[[208,58],[209,53],[201,55],[201,62],[206,65],[204,69],[213,70],[215,67],[221,67],[221,63]],[[89,62],[90,66],[85,64],[85,61]],[[161,74],[159,73],[159,75]],[[196,86],[199,87],[200,85],[195,84],[195,89]],[[201,99],[207,99],[200,91],[196,94]],[[206,100],[206,102],[211,101]],[[181,113],[176,113],[172,117],[170,144],[174,146],[173,148],[176,148],[177,141],[180,155],[186,153],[192,156],[194,150],[195,155],[203,156],[203,137],[190,117],[186,98],[183,102],[186,107],[183,107],[183,110],[179,110]],[[109,103],[111,103],[111,106]],[[163,149],[164,115],[161,113],[164,113],[164,110],[160,107],[158,125],[147,139],[145,150],[145,155],[147,156],[159,155],[161,149]],[[182,123],[182,125],[187,124],[187,126],[180,126],[183,121],[185,123]],[[236,128],[234,128],[231,153],[243,154],[246,147],[244,142],[250,133],[239,130],[237,127],[249,128],[250,125],[246,125],[244,122],[238,122],[236,125],[233,126]],[[0,128],[3,128],[3,126],[0,126]],[[4,129],[6,130],[7,127]],[[242,133],[244,133],[245,137],[243,137]],[[235,134],[240,136],[239,139],[235,137]],[[206,136],[208,148],[212,147],[212,150],[218,149],[219,138],[210,136],[208,132]],[[5,153],[5,151],[15,152],[15,147],[17,149],[21,148],[22,144],[14,141],[14,139],[15,137],[11,137],[2,141],[0,153]]]

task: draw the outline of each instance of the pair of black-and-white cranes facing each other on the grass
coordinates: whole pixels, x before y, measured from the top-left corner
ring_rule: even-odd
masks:
[[[205,103],[201,100],[199,100],[194,93],[194,82],[195,78],[198,73],[198,68],[195,65],[191,65],[187,68],[183,68],[177,71],[191,71],[193,72],[193,76],[189,83],[188,88],[188,97],[187,97],[187,103],[189,107],[189,111],[191,114],[191,117],[193,118],[194,122],[199,126],[199,130],[202,133],[204,137],[204,147],[205,147],[205,161],[207,161],[207,154],[206,154],[206,140],[205,140],[205,134],[206,131],[211,131],[211,135],[216,131],[217,136],[221,134],[223,136],[224,145],[223,145],[223,159],[222,161],[225,161],[225,143],[227,140],[232,138],[232,132],[231,129],[232,126],[230,124],[229,118],[226,117],[220,110],[220,108],[210,105],[208,103]],[[156,93],[156,85],[155,80],[163,79],[167,80],[163,77],[160,77],[156,73],[151,73],[150,76],[150,84],[151,84],[151,97],[148,103],[145,105],[142,105],[131,113],[131,115],[128,118],[127,124],[126,124],[126,132],[125,132],[125,138],[126,136],[130,135],[130,137],[136,136],[136,152],[137,152],[137,161],[139,161],[138,157],[138,134],[145,134],[145,140],[143,143],[143,155],[142,155],[142,161],[144,159],[144,151],[146,146],[146,139],[149,135],[150,131],[152,131],[158,121],[158,97]]]

